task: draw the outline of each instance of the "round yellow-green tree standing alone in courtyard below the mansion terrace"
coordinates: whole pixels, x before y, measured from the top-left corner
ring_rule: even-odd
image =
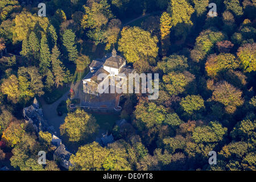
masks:
[[[77,109],[68,113],[65,122],[60,125],[60,134],[67,135],[69,141],[80,142],[96,132],[98,125],[96,119],[84,110]]]

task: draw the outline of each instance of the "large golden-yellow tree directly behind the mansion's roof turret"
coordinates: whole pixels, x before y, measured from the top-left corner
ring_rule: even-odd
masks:
[[[158,38],[139,27],[124,27],[118,42],[118,51],[123,52],[129,63],[158,56]]]

